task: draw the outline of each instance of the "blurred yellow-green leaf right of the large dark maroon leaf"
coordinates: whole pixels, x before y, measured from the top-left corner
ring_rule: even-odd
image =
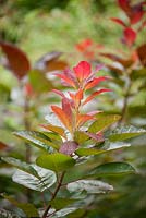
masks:
[[[31,84],[36,93],[47,93],[53,88],[52,83],[39,70],[33,70],[28,74]]]

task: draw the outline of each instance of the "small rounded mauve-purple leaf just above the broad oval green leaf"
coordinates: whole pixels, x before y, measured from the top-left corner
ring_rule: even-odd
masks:
[[[59,152],[65,155],[72,155],[76,150],[77,147],[78,147],[78,144],[75,143],[74,141],[66,141],[65,143],[61,145]]]

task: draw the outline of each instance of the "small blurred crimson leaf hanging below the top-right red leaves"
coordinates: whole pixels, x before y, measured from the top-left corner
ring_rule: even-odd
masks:
[[[124,29],[124,41],[127,46],[132,46],[136,40],[136,32],[130,27]]]

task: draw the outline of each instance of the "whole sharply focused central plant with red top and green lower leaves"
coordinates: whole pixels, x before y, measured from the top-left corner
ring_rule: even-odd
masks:
[[[99,71],[101,65],[97,66]],[[12,157],[2,159],[17,168],[12,179],[27,189],[45,194],[45,206],[36,208],[33,203],[20,203],[11,196],[3,197],[20,207],[26,217],[82,217],[89,210],[97,194],[113,191],[113,186],[99,178],[106,175],[133,173],[127,162],[104,162],[98,156],[130,146],[125,140],[144,133],[136,128],[111,129],[120,120],[118,114],[101,111],[85,111],[85,106],[98,95],[111,92],[98,88],[107,76],[96,77],[92,66],[81,61],[73,70],[56,73],[65,86],[65,92],[53,89],[61,97],[61,106],[51,106],[58,125],[41,124],[42,131],[19,131],[14,134],[29,145],[41,149],[35,164],[23,162]],[[66,92],[68,86],[68,92]],[[49,120],[49,119],[48,119]],[[107,131],[108,129],[108,131]],[[101,159],[101,158],[100,158]]]

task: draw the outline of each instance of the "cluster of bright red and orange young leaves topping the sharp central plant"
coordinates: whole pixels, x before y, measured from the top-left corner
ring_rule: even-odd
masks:
[[[101,65],[98,65],[97,71],[100,69]],[[52,111],[72,135],[74,131],[77,131],[85,122],[93,120],[95,117],[95,112],[82,114],[81,107],[93,100],[93,98],[100,93],[110,92],[110,89],[102,88],[94,92],[86,99],[84,99],[84,93],[96,87],[100,82],[106,81],[109,77],[95,77],[92,73],[90,64],[86,61],[81,61],[73,68],[73,71],[69,70],[62,74],[56,75],[63,80],[64,85],[74,87],[75,89],[74,93],[69,92],[68,97],[62,92],[53,89],[53,93],[62,97],[62,107],[51,106]],[[64,149],[64,147],[62,149]]]

